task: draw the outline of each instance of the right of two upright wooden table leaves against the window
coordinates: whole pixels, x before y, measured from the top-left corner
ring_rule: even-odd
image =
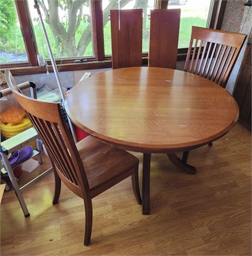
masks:
[[[149,67],[176,68],[180,9],[150,11]]]

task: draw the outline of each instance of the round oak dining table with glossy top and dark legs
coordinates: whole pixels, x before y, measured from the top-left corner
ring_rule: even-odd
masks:
[[[158,67],[119,68],[75,85],[65,109],[91,136],[143,152],[143,214],[150,213],[150,156],[165,153],[178,168],[196,169],[177,155],[225,135],[238,120],[234,98],[193,73]]]

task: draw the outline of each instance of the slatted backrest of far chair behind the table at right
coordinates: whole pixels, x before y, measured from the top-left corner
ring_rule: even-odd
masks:
[[[243,34],[193,26],[184,71],[225,88],[245,39]]]

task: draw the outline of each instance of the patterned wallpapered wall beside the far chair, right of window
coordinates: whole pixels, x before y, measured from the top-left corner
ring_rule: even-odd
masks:
[[[226,4],[226,10],[225,10],[221,30],[236,32],[236,33],[243,33],[248,35],[251,38],[252,36],[251,28],[252,28],[252,8],[249,6],[244,6],[243,1],[241,0],[229,0],[228,3]],[[236,64],[234,66],[234,70],[231,73],[229,77],[229,81],[226,85],[226,90],[228,90],[231,94],[233,94],[233,91],[234,91],[236,78],[240,70],[241,62],[243,61],[248,38],[246,39],[246,42],[244,43],[244,46],[241,49],[238,60],[236,61]]]

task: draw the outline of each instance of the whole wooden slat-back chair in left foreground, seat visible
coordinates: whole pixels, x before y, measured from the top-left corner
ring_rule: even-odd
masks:
[[[11,73],[6,70],[6,75],[11,76]],[[61,180],[74,194],[84,200],[84,245],[90,242],[92,199],[95,196],[131,176],[135,198],[138,204],[142,204],[137,157],[127,151],[108,146],[92,136],[74,144],[59,104],[33,100],[18,92],[12,83],[8,85],[36,127],[49,153],[55,176],[53,204],[58,203]]]

